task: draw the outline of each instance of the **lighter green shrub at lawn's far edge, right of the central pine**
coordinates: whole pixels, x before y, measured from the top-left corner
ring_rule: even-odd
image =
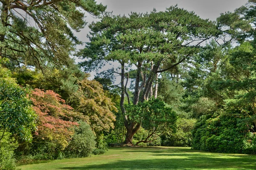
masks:
[[[177,119],[176,132],[166,132],[161,136],[163,146],[190,147],[192,145],[192,129],[195,125],[195,119]]]

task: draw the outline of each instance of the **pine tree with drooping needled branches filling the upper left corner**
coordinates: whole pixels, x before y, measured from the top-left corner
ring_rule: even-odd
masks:
[[[95,0],[1,0],[0,57],[15,66],[68,65],[81,42],[84,11],[98,16],[106,6]],[[10,65],[9,65],[10,66]]]

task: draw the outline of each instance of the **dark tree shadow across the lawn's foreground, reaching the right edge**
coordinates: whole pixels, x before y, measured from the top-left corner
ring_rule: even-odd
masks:
[[[158,155],[161,156],[161,155]],[[166,156],[166,155],[164,155]],[[169,154],[169,158],[115,160],[107,164],[84,165],[78,167],[65,167],[62,170],[198,170],[198,169],[256,169],[256,157],[237,156],[221,158],[212,156],[188,156],[187,154]],[[172,157],[173,156],[173,157]],[[184,158],[180,158],[183,156]],[[129,159],[129,158],[128,158]]]

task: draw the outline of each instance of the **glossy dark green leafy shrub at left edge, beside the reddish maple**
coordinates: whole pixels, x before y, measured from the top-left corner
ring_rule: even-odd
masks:
[[[0,131],[10,132],[22,140],[31,141],[37,116],[27,96],[29,91],[17,85],[8,75],[2,75],[3,77],[0,77]]]

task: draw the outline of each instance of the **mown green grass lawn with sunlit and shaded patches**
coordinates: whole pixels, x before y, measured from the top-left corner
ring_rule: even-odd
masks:
[[[256,155],[208,153],[190,147],[114,147],[87,158],[38,161],[21,170],[255,170]]]

